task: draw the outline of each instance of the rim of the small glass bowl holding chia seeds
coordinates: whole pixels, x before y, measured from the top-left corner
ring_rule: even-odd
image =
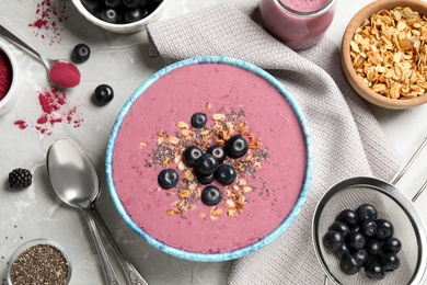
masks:
[[[34,246],[37,246],[37,244],[48,244],[48,246],[51,246],[51,247],[56,248],[57,250],[59,250],[61,252],[61,254],[66,259],[67,265],[68,265],[68,276],[67,276],[66,284],[69,284],[70,280],[71,280],[71,275],[72,275],[71,258],[67,253],[67,251],[62,248],[62,246],[60,246],[58,242],[56,242],[56,241],[54,241],[51,239],[48,239],[48,238],[31,239],[31,240],[27,240],[27,241],[21,243],[20,246],[18,246],[18,248],[13,251],[12,255],[9,259],[8,270],[7,270],[7,278],[5,278],[8,284],[9,285],[13,285],[13,283],[11,281],[11,273],[12,273],[12,265],[13,265],[14,261],[18,259],[18,256],[22,252],[24,252],[25,250],[27,250],[27,249],[30,249],[30,248],[32,248]]]

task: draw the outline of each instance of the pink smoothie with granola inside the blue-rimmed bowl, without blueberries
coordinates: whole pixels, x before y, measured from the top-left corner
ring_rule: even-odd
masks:
[[[208,117],[204,129],[191,126],[196,112]],[[229,161],[242,162],[238,181],[214,182],[223,198],[207,206],[199,198],[204,185],[180,155],[183,145],[223,128],[247,136],[252,148]],[[161,163],[180,173],[174,189],[159,186]],[[198,253],[232,251],[270,233],[299,198],[305,168],[304,135],[288,102],[265,79],[226,64],[184,66],[154,81],[124,117],[112,162],[116,193],[132,221],[170,247]]]

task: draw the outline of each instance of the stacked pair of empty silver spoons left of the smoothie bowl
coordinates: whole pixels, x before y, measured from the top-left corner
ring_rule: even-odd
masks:
[[[105,226],[104,220],[101,218],[100,213],[94,206],[94,202],[100,195],[99,176],[92,161],[84,153],[81,147],[71,140],[58,139],[49,147],[47,155],[47,169],[56,193],[65,203],[71,206],[81,207],[86,217],[92,218],[91,214],[94,214],[94,217],[97,219],[105,232],[105,236],[113,246],[120,265],[126,273],[125,275],[128,283],[134,285],[148,285],[118,248],[112,233]],[[92,224],[93,219],[90,225]],[[109,282],[117,278],[114,275],[114,271],[107,259],[105,249],[102,247],[101,239],[96,238],[95,244],[97,244],[96,242],[101,243],[99,252],[101,252],[100,256],[103,261],[103,267],[107,276],[108,284],[118,284],[117,282]]]

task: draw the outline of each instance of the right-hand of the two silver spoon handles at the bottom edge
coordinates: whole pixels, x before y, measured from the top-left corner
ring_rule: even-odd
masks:
[[[101,228],[105,232],[105,236],[109,240],[109,243],[112,244],[114,252],[116,253],[118,261],[120,262],[120,265],[126,273],[126,277],[127,277],[129,284],[131,284],[131,285],[148,285],[148,283],[138,273],[138,271],[134,267],[134,265],[130,263],[130,261],[126,258],[126,255],[123,253],[120,248],[117,246],[116,241],[113,238],[112,232],[106,227],[105,221],[101,217],[100,212],[97,210],[96,206],[93,206],[92,209],[93,209],[93,214],[95,216],[95,219],[99,221],[99,224],[101,225]]]

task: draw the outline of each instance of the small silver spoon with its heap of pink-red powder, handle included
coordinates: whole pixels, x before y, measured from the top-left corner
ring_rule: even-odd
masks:
[[[41,60],[42,64],[46,67],[48,78],[53,83],[62,88],[71,88],[76,87],[80,82],[79,69],[72,62],[66,59],[49,59],[44,57],[2,25],[0,25],[0,35]],[[59,71],[66,72],[67,75],[58,76]],[[72,77],[69,77],[70,75],[72,75]],[[67,81],[64,81],[62,77],[66,76],[68,79]]]

